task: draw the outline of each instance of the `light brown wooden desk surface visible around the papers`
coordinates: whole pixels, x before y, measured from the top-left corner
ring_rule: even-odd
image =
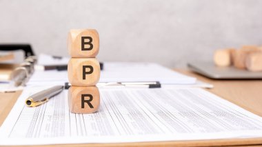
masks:
[[[208,91],[262,117],[262,80],[212,80],[188,70],[177,71],[185,75],[196,77],[201,81],[208,82],[209,84],[213,84],[214,88]],[[14,93],[0,93],[0,125],[3,124],[4,119],[8,116],[8,113],[20,94],[21,91]],[[132,144],[71,144],[62,146],[236,146],[245,144],[262,145],[262,138],[219,139],[207,141],[165,141]]]

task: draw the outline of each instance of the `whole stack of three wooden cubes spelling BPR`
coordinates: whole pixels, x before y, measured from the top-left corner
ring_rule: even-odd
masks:
[[[72,57],[68,62],[68,106],[74,113],[97,112],[100,105],[100,65],[96,56],[99,52],[97,30],[70,30],[68,51]]]

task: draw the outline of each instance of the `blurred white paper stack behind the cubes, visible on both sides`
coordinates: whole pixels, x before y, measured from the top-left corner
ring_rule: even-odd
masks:
[[[68,81],[67,71],[35,71],[29,84]],[[156,63],[105,62],[99,82],[160,81],[161,84],[194,84],[196,78],[182,75]]]

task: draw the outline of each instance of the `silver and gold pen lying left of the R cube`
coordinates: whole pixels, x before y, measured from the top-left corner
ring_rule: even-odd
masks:
[[[26,99],[26,106],[36,107],[46,103],[51,97],[59,94],[63,90],[63,86],[54,86],[41,92],[37,92]]]

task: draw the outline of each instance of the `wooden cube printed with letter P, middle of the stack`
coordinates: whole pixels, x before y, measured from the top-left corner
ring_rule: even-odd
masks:
[[[100,78],[96,58],[71,58],[68,62],[68,81],[72,86],[95,86]]]

